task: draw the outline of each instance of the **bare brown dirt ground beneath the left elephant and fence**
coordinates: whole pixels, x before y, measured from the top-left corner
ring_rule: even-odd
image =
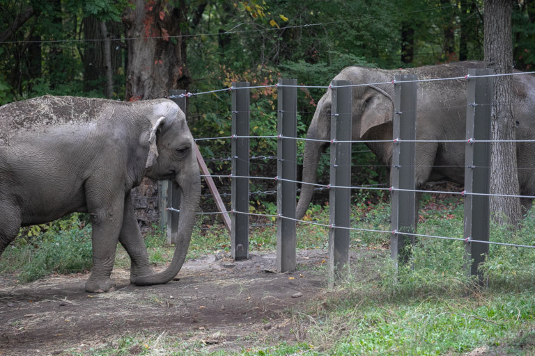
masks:
[[[377,254],[357,250],[351,259],[362,266]],[[102,294],[84,291],[87,274],[29,284],[0,275],[0,355],[79,355],[139,333],[200,341],[203,350],[293,342],[298,336],[288,310],[320,296],[325,261],[326,251],[301,251],[297,272],[274,273],[274,253],[246,261],[210,255],[187,261],[180,280],[158,286],[133,286],[129,271],[114,270],[117,291]],[[362,272],[363,280],[373,278]]]

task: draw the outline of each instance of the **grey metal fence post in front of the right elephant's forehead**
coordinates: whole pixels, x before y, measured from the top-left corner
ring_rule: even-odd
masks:
[[[332,82],[331,168],[329,179],[329,283],[349,268],[351,203],[350,81]],[[339,142],[344,141],[344,142]],[[345,229],[344,229],[345,228]]]

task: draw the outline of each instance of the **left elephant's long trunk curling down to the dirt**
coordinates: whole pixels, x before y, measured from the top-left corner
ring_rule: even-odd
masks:
[[[199,171],[199,168],[197,168],[197,171]],[[193,184],[184,185],[179,182],[178,186],[180,186],[182,193],[180,196],[180,218],[178,219],[179,232],[171,264],[160,273],[137,278],[135,284],[138,286],[169,282],[180,272],[180,268],[184,264],[195,225],[196,208],[201,198],[201,178],[198,176]]]

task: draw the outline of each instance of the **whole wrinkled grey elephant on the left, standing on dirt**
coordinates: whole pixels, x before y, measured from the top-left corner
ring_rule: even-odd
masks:
[[[149,142],[150,140],[150,142]],[[91,215],[93,273],[86,291],[115,289],[117,242],[130,255],[130,282],[163,284],[184,263],[200,196],[194,140],[185,115],[165,99],[125,103],[38,97],[0,107],[0,254],[20,227],[75,211]],[[154,273],[130,189],[146,176],[183,193],[171,265]]]

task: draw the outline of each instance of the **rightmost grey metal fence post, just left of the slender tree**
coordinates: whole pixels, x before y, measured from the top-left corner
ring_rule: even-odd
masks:
[[[470,76],[493,74],[492,70],[468,70],[466,108],[465,148],[465,258],[470,275],[476,275],[483,283],[478,267],[488,255],[488,243],[474,243],[470,240],[489,241],[490,206],[490,143],[477,142],[491,139],[491,113],[494,79],[492,77],[470,78]],[[473,142],[473,141],[476,142]]]

